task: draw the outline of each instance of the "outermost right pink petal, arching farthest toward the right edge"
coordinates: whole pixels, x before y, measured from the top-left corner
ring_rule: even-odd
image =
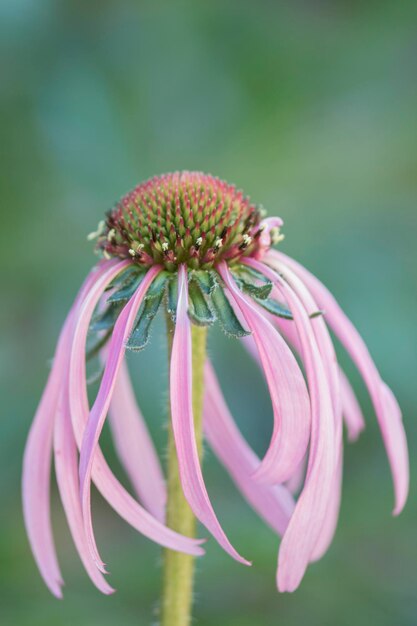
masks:
[[[332,294],[302,265],[285,254],[271,251],[268,263],[281,261],[300,276],[313,294],[326,319],[360,371],[371,396],[387,451],[395,490],[394,515],[401,512],[408,495],[408,450],[402,419],[392,403],[386,403],[386,390],[369,351],[352,322],[343,313]],[[395,403],[396,404],[396,403]],[[398,442],[401,445],[398,446]]]

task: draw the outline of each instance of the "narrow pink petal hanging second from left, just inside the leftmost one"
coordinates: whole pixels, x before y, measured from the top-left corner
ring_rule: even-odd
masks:
[[[67,354],[68,349],[67,344]],[[58,402],[54,428],[54,453],[58,488],[77,552],[95,586],[102,593],[111,594],[114,589],[107,584],[91,558],[84,531],[78,484],[78,452],[69,414],[68,387],[62,389]]]

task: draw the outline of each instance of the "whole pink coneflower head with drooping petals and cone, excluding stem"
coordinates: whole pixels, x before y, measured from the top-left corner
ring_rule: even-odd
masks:
[[[328,326],[369,390],[393,475],[394,513],[402,510],[408,453],[398,404],[333,296],[296,261],[272,248],[283,238],[282,224],[280,218],[264,218],[262,209],[235,187],[181,172],[136,187],[89,236],[97,239],[103,258],[67,316],[24,455],[26,528],[42,576],[56,596],[63,583],[50,525],[52,449],[74,543],[103,593],[112,588],[94,538],[91,481],[145,536],[172,550],[204,553],[203,540],[164,523],[165,480],[125,362],[126,349],[146,346],[161,307],[175,325],[170,404],[183,492],[198,520],[233,558],[250,564],[225,535],[204,484],[192,406],[192,324],[218,321],[227,335],[245,344],[265,376],[274,427],[263,459],[239,432],[208,360],[204,433],[250,505],[282,536],[279,590],[296,589],[308,564],[324,554],[333,538],[341,498],[342,418],[351,440],[364,428]],[[90,408],[86,362],[98,353],[104,373]],[[116,451],[138,499],[121,485],[100,450],[108,413]]]

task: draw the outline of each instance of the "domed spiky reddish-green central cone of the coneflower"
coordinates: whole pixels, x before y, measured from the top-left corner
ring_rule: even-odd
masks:
[[[98,247],[106,256],[175,271],[210,269],[221,260],[255,256],[261,210],[233,185],[199,172],[156,176],[108,214]]]

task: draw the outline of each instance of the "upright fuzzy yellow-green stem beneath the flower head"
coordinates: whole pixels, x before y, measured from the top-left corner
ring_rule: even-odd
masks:
[[[174,324],[167,317],[169,353],[171,353]],[[203,451],[204,362],[207,329],[192,325],[193,414],[194,429],[200,459]],[[195,537],[196,519],[184,498],[178,473],[177,453],[172,428],[168,435],[168,502],[167,526],[187,537]],[[182,552],[164,550],[161,626],[189,626],[193,597],[194,557]]]

